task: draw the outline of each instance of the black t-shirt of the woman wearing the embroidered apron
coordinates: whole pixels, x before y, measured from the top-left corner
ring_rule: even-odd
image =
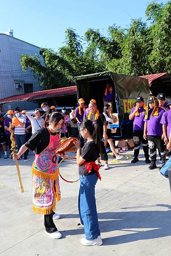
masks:
[[[55,135],[56,133],[51,133]],[[35,132],[32,137],[25,143],[26,147],[34,151],[35,154],[40,154],[50,142],[50,133],[47,128],[43,128]]]

